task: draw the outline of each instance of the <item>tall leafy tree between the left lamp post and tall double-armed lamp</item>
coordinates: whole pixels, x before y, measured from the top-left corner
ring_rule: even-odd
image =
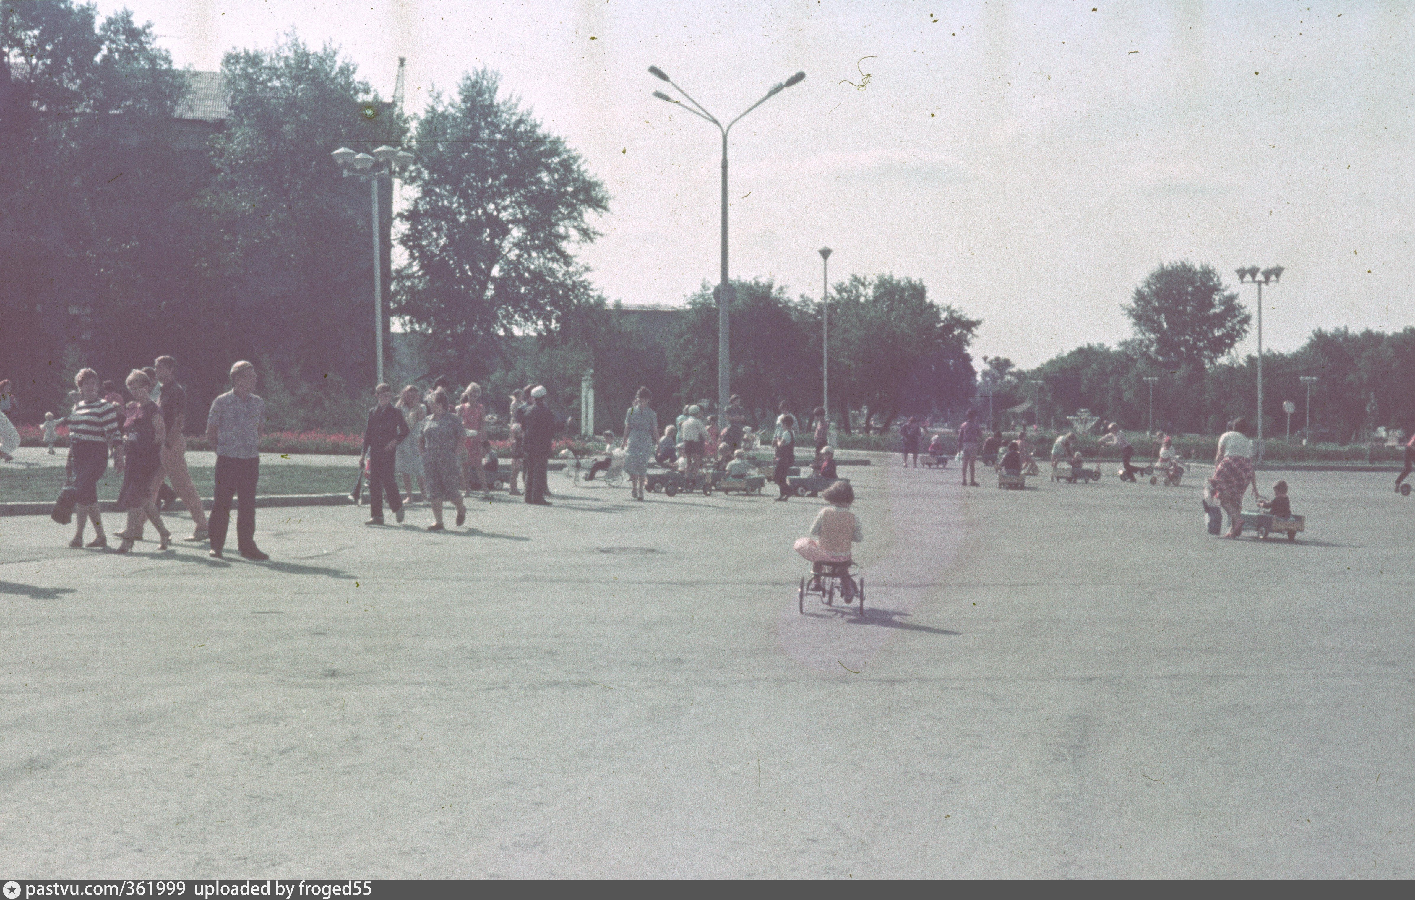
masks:
[[[433,93],[408,175],[419,194],[402,215],[395,310],[429,334],[437,362],[474,376],[490,345],[591,301],[572,249],[599,236],[589,217],[608,208],[580,154],[498,93],[488,69],[451,99]]]

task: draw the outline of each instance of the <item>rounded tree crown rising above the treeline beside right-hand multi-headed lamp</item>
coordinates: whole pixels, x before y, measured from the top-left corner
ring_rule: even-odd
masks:
[[[1248,334],[1252,316],[1218,272],[1190,262],[1160,263],[1121,307],[1138,347],[1167,365],[1213,365]]]

